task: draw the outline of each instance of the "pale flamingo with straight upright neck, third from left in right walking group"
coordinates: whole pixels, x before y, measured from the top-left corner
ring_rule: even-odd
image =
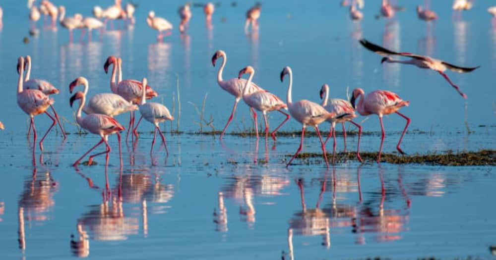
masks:
[[[302,123],[302,138],[300,140],[300,147],[296,151],[295,155],[289,160],[288,164],[286,164],[286,167],[288,167],[293,159],[302,151],[303,148],[303,138],[305,136],[305,128],[307,125],[311,125],[315,127],[315,131],[317,132],[318,139],[320,140],[320,145],[322,148],[322,155],[325,159],[325,165],[327,168],[329,168],[329,162],[327,162],[327,155],[325,153],[325,145],[324,142],[322,142],[322,136],[320,136],[320,131],[318,131],[318,124],[322,123],[323,121],[333,118],[336,113],[334,112],[329,112],[325,110],[324,107],[322,107],[319,104],[310,102],[308,100],[300,100],[295,103],[293,103],[293,100],[291,98],[291,91],[293,87],[293,72],[291,71],[291,68],[286,66],[284,69],[281,71],[281,82],[284,81],[284,76],[289,75],[289,86],[288,86],[288,109],[289,113],[293,118],[295,118],[298,122]]]

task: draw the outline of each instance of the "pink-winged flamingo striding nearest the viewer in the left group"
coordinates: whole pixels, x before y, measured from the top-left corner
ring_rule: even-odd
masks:
[[[117,122],[116,119],[114,119],[111,116],[104,115],[104,114],[89,114],[86,115],[85,117],[81,116],[81,111],[83,110],[84,103],[86,101],[86,95],[83,92],[76,92],[71,98],[70,98],[70,106],[72,107],[72,104],[74,103],[75,100],[80,99],[81,102],[79,103],[79,108],[77,109],[76,113],[76,121],[79,126],[82,128],[88,130],[89,132],[99,135],[102,139],[100,142],[98,142],[94,147],[92,147],[88,152],[86,152],[83,156],[81,156],[79,159],[77,159],[72,166],[77,166],[79,164],[79,161],[84,158],[87,154],[89,154],[93,149],[97,148],[100,144],[105,143],[106,150],[105,152],[97,153],[94,155],[91,155],[88,159],[88,165],[91,165],[93,162],[93,157],[98,156],[98,155],[106,155],[106,161],[108,162],[109,158],[109,153],[111,151],[109,143],[107,142],[108,136],[111,134],[115,134],[119,131],[123,131],[124,127]],[[121,140],[119,140],[119,144],[121,143]]]

